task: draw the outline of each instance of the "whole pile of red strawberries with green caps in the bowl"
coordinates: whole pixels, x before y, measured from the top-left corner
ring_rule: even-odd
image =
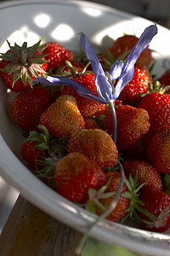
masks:
[[[126,58],[138,41],[126,35],[99,55],[105,70]],[[147,47],[135,64],[133,79],[115,102],[117,143],[109,106],[82,96],[70,86],[31,86],[38,75],[74,79],[98,96],[92,67],[85,58],[55,42],[21,47],[10,44],[1,55],[4,84],[16,96],[10,116],[27,133],[20,154],[42,181],[70,201],[100,215],[110,206],[125,172],[122,195],[107,217],[136,219],[144,230],[170,227],[170,73],[159,81],[150,74]],[[20,75],[21,73],[21,75]],[[115,82],[116,83],[116,82]]]

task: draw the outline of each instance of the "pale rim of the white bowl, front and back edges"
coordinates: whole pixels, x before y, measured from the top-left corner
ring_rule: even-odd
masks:
[[[14,8],[18,5],[26,6],[26,4],[60,4],[63,6],[74,5],[74,6],[88,6],[94,7],[96,9],[105,9],[109,12],[116,12],[118,15],[122,16],[132,16],[123,11],[107,7],[99,3],[91,3],[87,1],[47,1],[45,0],[31,0],[31,1],[8,1],[7,3],[0,3],[0,11],[3,9]],[[136,15],[133,15],[135,17]],[[138,17],[138,16],[136,16]],[[140,18],[141,20],[145,20]],[[168,30],[167,30],[168,31]],[[26,200],[31,201],[32,204],[39,207],[42,211],[47,212],[54,218],[59,219],[61,222],[70,225],[72,228],[85,232],[87,224],[94,221],[97,217],[78,207],[71,201],[67,201],[61,195],[56,196],[56,192],[48,188],[44,183],[42,183],[37,177],[35,177],[31,172],[27,172],[26,166],[20,162],[20,160],[15,156],[12,150],[5,143],[2,135],[0,134],[0,174],[8,182],[11,183],[16,189],[19,189],[21,195],[26,198]],[[13,166],[9,165],[9,160],[13,162]],[[18,177],[13,177],[14,168],[18,168],[20,173],[27,172],[26,175],[20,180]],[[26,187],[27,183],[25,178],[31,179],[31,184]],[[32,190],[34,186],[34,190]],[[44,187],[45,186],[45,187]],[[44,189],[45,188],[45,189]],[[39,191],[43,191],[41,195]],[[47,196],[45,193],[51,195],[50,201],[46,201],[44,205],[44,198]],[[44,195],[44,196],[42,196]],[[57,207],[56,207],[57,206]],[[114,232],[114,235],[113,235]],[[120,247],[126,247],[127,249],[137,252],[137,253],[148,253],[159,255],[169,255],[170,249],[170,237],[164,234],[139,230],[137,228],[128,227],[127,225],[111,223],[108,220],[101,221],[97,226],[94,227],[90,236],[96,239],[105,241],[107,243],[115,244]]]

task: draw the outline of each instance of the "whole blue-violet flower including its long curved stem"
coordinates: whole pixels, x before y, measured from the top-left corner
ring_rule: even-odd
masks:
[[[79,84],[72,79],[66,79],[61,77],[48,76],[46,78],[45,77],[37,78],[32,81],[32,84],[40,83],[44,85],[58,85],[58,84],[70,85],[75,90],[77,90],[77,93],[80,96],[87,97],[91,100],[94,100],[100,103],[105,103],[105,104],[108,103],[111,108],[111,113],[113,117],[113,126],[114,126],[113,141],[116,143],[116,130],[117,130],[116,129],[116,111],[115,111],[113,102],[120,95],[121,91],[126,86],[126,84],[133,79],[134,64],[138,60],[141,52],[150,43],[150,40],[156,35],[156,33],[157,33],[156,25],[147,27],[142,33],[141,37],[139,38],[138,43],[133,47],[132,51],[127,56],[127,60],[125,61],[125,63],[123,64],[122,61],[114,62],[113,65],[111,66],[111,70],[109,73],[104,72],[98,60],[98,57],[94,53],[94,49],[92,48],[91,44],[88,42],[88,38],[83,33],[81,33],[80,44],[82,45],[82,49],[85,55],[87,55],[88,60],[91,61],[91,65],[94,70],[95,84],[97,87],[98,96],[94,96],[94,94],[90,92],[87,88],[82,86],[82,84]],[[116,87],[112,82],[115,79],[118,79]],[[108,207],[108,209],[102,215],[100,215],[99,218],[97,218],[96,221],[94,221],[94,223],[90,224],[87,232],[82,237],[80,247],[78,247],[78,250],[80,249],[80,252],[82,251],[81,246],[83,246],[84,242],[87,240],[90,230],[94,227],[95,224],[99,222],[99,220],[109,216],[109,214],[115,209],[117,205],[117,202],[122,193],[122,186],[123,186],[123,180],[124,180],[124,170],[120,161],[118,161],[118,165],[121,172],[121,180],[120,180],[118,189],[116,191],[116,195],[113,201],[111,202],[110,207]]]

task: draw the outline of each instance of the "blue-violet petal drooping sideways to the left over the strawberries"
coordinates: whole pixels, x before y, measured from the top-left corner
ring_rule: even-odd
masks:
[[[80,96],[86,97],[90,100],[105,104],[105,100],[94,96],[94,94],[88,90],[86,87],[82,86],[82,84],[77,83],[76,81],[72,79],[67,79],[67,78],[61,78],[61,77],[41,77],[37,79],[33,79],[31,82],[32,85],[34,84],[43,84],[43,85],[48,85],[48,86],[54,86],[54,85],[70,85],[72,86],[75,90],[77,90],[77,93]]]

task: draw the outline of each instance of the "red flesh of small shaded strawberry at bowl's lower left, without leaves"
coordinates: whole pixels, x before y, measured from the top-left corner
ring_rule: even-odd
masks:
[[[43,150],[36,148],[37,143],[32,141],[26,141],[20,148],[20,154],[23,159],[26,160],[32,170],[38,171],[43,165],[38,163],[38,160],[42,160],[46,157]]]

